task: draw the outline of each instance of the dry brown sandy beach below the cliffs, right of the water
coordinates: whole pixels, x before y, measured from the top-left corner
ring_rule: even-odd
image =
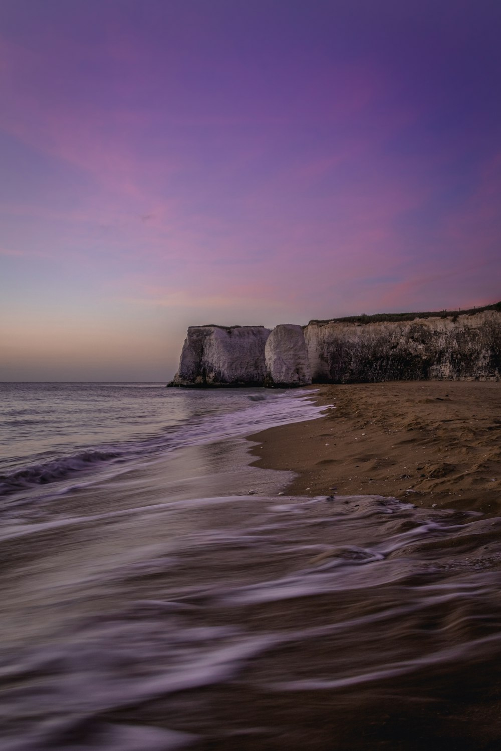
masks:
[[[314,385],[322,418],[247,436],[253,466],[287,469],[292,496],[376,495],[501,513],[501,383]]]

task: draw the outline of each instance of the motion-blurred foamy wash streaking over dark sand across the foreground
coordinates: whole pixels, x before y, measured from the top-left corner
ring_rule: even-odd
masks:
[[[8,525],[2,748],[497,748],[500,528],[367,496]]]

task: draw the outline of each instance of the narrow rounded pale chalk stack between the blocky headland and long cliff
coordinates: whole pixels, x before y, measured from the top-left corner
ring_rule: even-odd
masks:
[[[303,386],[312,382],[303,328],[280,324],[264,347],[267,386]]]

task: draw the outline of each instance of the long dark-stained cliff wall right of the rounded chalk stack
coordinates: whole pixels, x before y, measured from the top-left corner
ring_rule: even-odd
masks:
[[[501,378],[501,314],[354,324],[312,321],[304,330],[313,382]]]

